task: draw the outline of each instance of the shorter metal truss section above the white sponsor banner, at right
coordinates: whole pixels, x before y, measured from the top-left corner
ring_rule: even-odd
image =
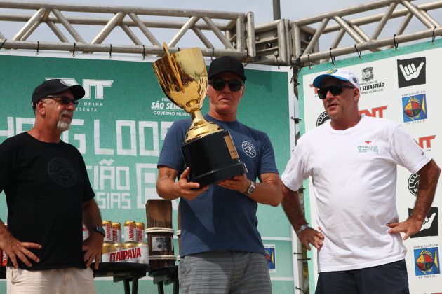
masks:
[[[301,64],[312,64],[314,62],[328,62],[330,59],[342,55],[349,55],[369,50],[376,52],[387,50],[398,46],[399,43],[422,40],[425,38],[434,41],[436,36],[442,36],[442,26],[431,15],[429,10],[442,8],[442,1],[434,1],[415,6],[411,3],[413,0],[383,0],[373,3],[354,6],[352,8],[337,10],[332,13],[323,13],[312,18],[304,18],[290,22],[290,33],[292,40],[293,57],[291,62],[302,66]],[[358,13],[367,13],[380,8],[386,8],[384,13],[375,14],[363,18],[354,18],[351,16]],[[441,13],[441,10],[438,10]],[[379,38],[384,30],[387,22],[395,18],[401,18],[401,24],[396,29],[395,34],[387,38]],[[404,34],[404,31],[410,24],[410,20],[416,18],[427,29],[413,31]],[[335,23],[329,24],[330,21]],[[312,30],[312,25],[318,25]],[[375,29],[371,32],[363,31],[362,25],[370,25]],[[312,33],[311,40],[307,47],[302,44],[302,34],[305,31]],[[326,51],[319,51],[319,40],[323,40],[324,36],[335,33],[333,42],[327,47]],[[342,38],[349,35],[354,41],[354,45],[340,46]]]

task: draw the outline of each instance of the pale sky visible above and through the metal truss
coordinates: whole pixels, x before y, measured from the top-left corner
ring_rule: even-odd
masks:
[[[174,8],[174,9],[197,9],[197,10],[215,10],[215,11],[231,11],[231,12],[239,12],[239,13],[248,13],[249,11],[253,12],[255,18],[255,25],[261,25],[268,22],[273,21],[273,1],[272,0],[223,0],[223,1],[207,1],[207,0],[187,0],[187,1],[178,1],[178,0],[75,0],[75,1],[67,1],[67,0],[50,0],[50,1],[33,1],[33,2],[43,2],[43,3],[69,3],[69,4],[79,4],[79,5],[96,5],[96,6],[135,6],[135,7],[145,7],[145,8]],[[329,0],[316,0],[316,1],[297,1],[297,0],[281,0],[281,18],[286,18],[288,20],[300,20],[302,18],[309,18],[314,15],[319,15],[321,13],[333,12],[336,10],[350,8],[354,6],[359,6],[366,3],[373,3],[375,1],[363,1],[363,0],[340,0],[340,1],[329,1]],[[434,0],[416,0],[412,1],[415,5],[420,5],[422,3],[434,2]],[[403,6],[399,5],[400,8]],[[396,8],[398,9],[398,8]],[[386,8],[371,10],[368,13],[360,13],[359,15],[353,15],[347,19],[359,18],[367,15],[375,15],[378,13],[383,13]],[[24,10],[18,11],[18,13],[23,13]],[[15,10],[6,10],[0,8],[0,13],[16,13]],[[31,13],[31,11],[27,12]],[[78,14],[77,14],[78,15]],[[434,12],[430,12],[436,20],[439,22],[442,21],[442,8],[438,10],[434,10]],[[127,18],[127,17],[126,17]],[[172,20],[172,18],[170,18]],[[174,19],[176,20],[176,18]],[[402,19],[390,20],[387,23],[386,28],[382,31],[380,38],[386,38],[388,36],[392,36]],[[216,21],[215,21],[216,22]],[[329,22],[329,25],[334,24],[334,20]],[[13,38],[13,36],[20,30],[20,28],[24,25],[24,23],[19,22],[1,22],[0,21],[0,33],[6,36],[6,38]],[[318,24],[313,25],[316,27]],[[366,34],[370,36],[375,25],[366,25],[366,27],[361,27]],[[79,33],[86,41],[92,41],[96,34],[100,31],[101,27],[95,28],[84,28],[81,27],[78,29]],[[419,22],[416,18],[413,18],[412,22],[406,33],[420,31],[422,29],[426,29],[421,22]],[[165,31],[163,35],[157,35],[155,29],[152,29],[152,32],[159,39],[160,42],[168,41],[172,38],[175,31],[169,30]],[[138,34],[138,32],[137,32]],[[122,37],[123,36],[123,37]],[[320,39],[320,49],[327,50],[330,47],[330,44],[333,42],[335,34],[328,34],[326,37],[322,37]],[[70,36],[69,36],[70,38]],[[163,38],[163,40],[161,40]],[[213,36],[208,36],[210,41],[213,41],[215,47],[222,48],[222,44],[213,39]],[[46,27],[40,26],[32,36],[28,38],[29,41],[58,41],[53,33]],[[197,43],[196,43],[197,42]],[[127,38],[125,34],[120,30],[115,30],[103,43],[119,43],[119,44],[127,44],[132,45],[133,43],[130,39]],[[144,43],[144,41],[143,41]],[[203,47],[203,44],[199,41],[196,36],[192,33],[192,36],[186,34],[182,41],[178,43],[178,46],[182,47],[192,47],[192,45],[196,43],[196,46]],[[344,45],[354,45],[355,41],[351,39],[349,36],[344,36],[342,40],[341,46]]]

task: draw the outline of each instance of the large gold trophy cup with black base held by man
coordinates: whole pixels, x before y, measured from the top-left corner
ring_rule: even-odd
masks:
[[[164,94],[175,105],[190,113],[182,155],[190,167],[189,181],[207,186],[247,172],[228,131],[203,118],[201,107],[208,87],[206,64],[199,48],[170,54],[152,64]]]

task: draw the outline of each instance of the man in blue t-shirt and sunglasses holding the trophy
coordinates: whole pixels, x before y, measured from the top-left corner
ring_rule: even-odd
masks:
[[[180,146],[191,120],[170,127],[156,190],[167,200],[180,197],[180,287],[182,293],[272,293],[256,211],[258,203],[276,207],[281,202],[273,147],[267,134],[236,120],[245,88],[243,64],[229,56],[217,58],[208,78],[204,118],[230,132],[248,172],[206,187],[187,181],[189,167]]]

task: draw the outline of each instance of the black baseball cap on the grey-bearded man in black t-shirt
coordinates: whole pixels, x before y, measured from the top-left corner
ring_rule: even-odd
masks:
[[[74,95],[74,99],[78,100],[84,97],[84,88],[81,85],[69,85],[65,80],[53,78],[45,80],[41,85],[37,86],[32,93],[32,106],[39,102],[40,99],[52,94],[57,94],[65,90],[70,90]]]

